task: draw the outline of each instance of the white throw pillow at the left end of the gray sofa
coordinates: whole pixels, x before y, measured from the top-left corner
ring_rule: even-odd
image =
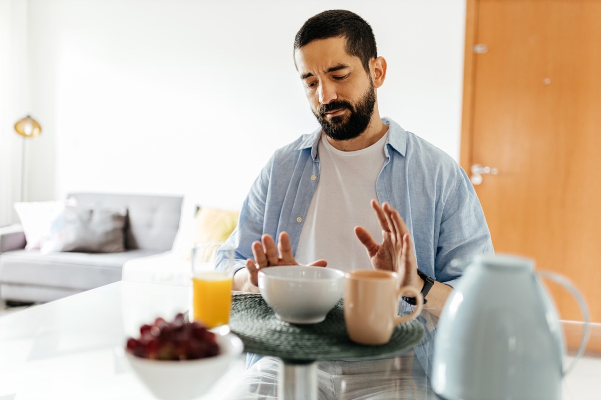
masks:
[[[14,203],[14,209],[25,233],[26,250],[39,249],[41,237],[50,223],[63,210],[65,201],[30,201]]]

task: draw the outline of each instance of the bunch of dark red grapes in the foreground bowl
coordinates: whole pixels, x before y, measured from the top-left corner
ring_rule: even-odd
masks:
[[[153,360],[194,360],[219,354],[215,333],[198,322],[185,321],[180,312],[172,322],[156,318],[140,327],[138,339],[127,339],[126,350]]]

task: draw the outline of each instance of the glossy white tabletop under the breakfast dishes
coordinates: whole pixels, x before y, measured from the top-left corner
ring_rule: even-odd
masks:
[[[153,399],[115,350],[142,324],[187,310],[188,290],[121,281],[0,317],[0,399]],[[563,326],[575,337],[582,327]],[[601,324],[588,348],[564,379],[564,400],[601,398]],[[203,399],[224,398],[244,368],[241,356]]]

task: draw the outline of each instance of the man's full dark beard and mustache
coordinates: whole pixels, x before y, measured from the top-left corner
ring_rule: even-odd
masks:
[[[355,105],[344,100],[332,101],[332,103],[319,106],[313,115],[322,125],[323,132],[331,139],[349,140],[358,137],[365,131],[367,125],[370,124],[375,104],[376,91],[373,82],[370,82],[370,87]],[[326,113],[341,109],[348,109],[350,116],[338,115],[330,119],[325,118]]]

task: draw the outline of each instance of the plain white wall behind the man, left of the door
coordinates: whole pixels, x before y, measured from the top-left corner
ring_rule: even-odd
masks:
[[[26,200],[112,191],[239,207],[273,150],[317,128],[292,43],[330,8],[373,27],[388,61],[381,115],[459,159],[465,0],[28,0],[43,134]]]

